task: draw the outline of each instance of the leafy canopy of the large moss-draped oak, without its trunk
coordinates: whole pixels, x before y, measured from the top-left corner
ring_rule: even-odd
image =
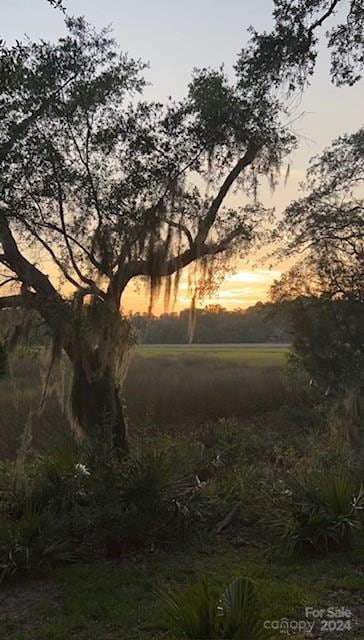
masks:
[[[56,300],[50,279],[22,264],[31,246],[74,291],[118,306],[135,276],[154,286],[250,242],[262,209],[232,211],[224,200],[253,161],[251,182],[277,166],[293,137],[277,106],[231,89],[222,72],[197,74],[181,103],[135,100],[143,65],[82,19],[67,24],[57,45],[3,45],[1,261]],[[215,197],[191,174],[216,185]]]

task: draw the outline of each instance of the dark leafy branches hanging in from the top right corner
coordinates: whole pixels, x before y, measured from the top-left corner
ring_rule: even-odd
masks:
[[[251,28],[251,46],[238,60],[242,78],[253,85],[264,77],[266,89],[286,83],[289,91],[310,80],[318,56],[320,28],[340,12],[326,31],[330,75],[338,85],[353,85],[364,67],[362,0],[274,0],[274,27],[269,33]]]

